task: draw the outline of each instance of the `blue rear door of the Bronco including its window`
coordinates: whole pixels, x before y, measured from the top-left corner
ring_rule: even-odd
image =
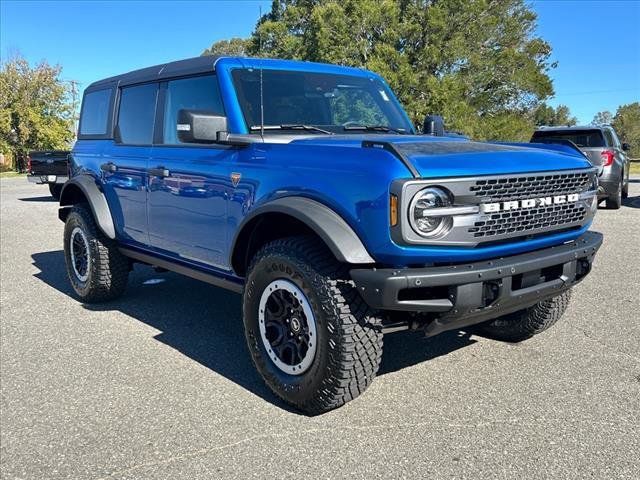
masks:
[[[147,169],[153,143],[158,84],[123,87],[116,141],[105,150],[101,174],[118,237],[148,245]]]

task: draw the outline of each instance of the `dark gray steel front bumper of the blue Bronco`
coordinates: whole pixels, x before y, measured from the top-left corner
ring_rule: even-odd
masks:
[[[602,244],[586,232],[563,245],[444,267],[353,269],[351,278],[378,310],[431,314],[427,334],[461,328],[529,307],[582,280]]]

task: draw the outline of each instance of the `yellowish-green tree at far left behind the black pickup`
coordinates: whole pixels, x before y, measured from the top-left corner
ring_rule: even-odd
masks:
[[[74,106],[59,66],[31,67],[21,57],[0,66],[0,151],[63,149],[74,136]]]

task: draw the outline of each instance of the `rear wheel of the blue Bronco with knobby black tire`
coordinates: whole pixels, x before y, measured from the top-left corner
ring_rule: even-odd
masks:
[[[64,227],[64,257],[73,290],[86,303],[118,298],[127,286],[129,260],[96,225],[87,205],[76,205]]]

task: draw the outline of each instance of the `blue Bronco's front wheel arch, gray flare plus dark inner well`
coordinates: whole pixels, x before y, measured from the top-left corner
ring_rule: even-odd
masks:
[[[319,237],[340,262],[375,263],[358,235],[335,211],[309,198],[284,197],[244,218],[231,244],[230,265],[237,275],[245,276],[253,254],[262,245],[299,234]]]

